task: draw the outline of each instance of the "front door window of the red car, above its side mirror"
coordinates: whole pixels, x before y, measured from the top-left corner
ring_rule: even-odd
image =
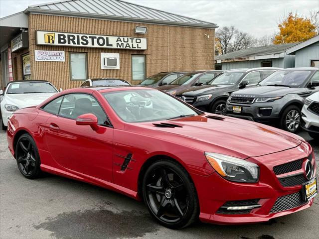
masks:
[[[76,119],[83,114],[93,114],[98,118],[98,124],[109,124],[108,119],[94,97],[87,94],[70,94],[64,96],[59,115]]]

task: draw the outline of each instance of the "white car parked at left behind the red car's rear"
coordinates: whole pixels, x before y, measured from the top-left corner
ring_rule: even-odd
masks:
[[[4,130],[8,118],[18,109],[37,106],[58,90],[47,81],[12,81],[0,90],[1,126]]]

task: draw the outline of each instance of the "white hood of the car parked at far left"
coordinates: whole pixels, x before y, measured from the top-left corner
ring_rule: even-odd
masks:
[[[37,106],[56,93],[7,94],[6,104],[17,106],[19,109]]]

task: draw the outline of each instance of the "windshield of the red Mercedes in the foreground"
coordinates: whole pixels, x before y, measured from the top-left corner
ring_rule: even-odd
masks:
[[[158,90],[116,91],[102,95],[116,114],[126,122],[158,121],[198,115],[192,108]]]

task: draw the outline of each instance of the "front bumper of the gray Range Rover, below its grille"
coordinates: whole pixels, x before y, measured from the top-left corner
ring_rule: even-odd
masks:
[[[256,122],[271,122],[279,119],[280,111],[284,105],[285,103],[282,100],[253,104],[231,103],[227,100],[226,114],[227,116]],[[233,112],[233,106],[240,106],[241,113]]]

